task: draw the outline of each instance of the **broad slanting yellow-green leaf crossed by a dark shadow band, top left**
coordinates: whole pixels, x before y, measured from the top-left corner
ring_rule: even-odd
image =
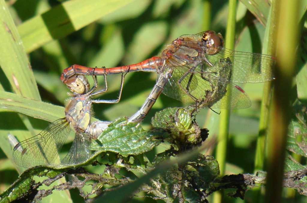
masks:
[[[66,1],[18,26],[25,50],[31,52],[52,39],[60,39],[132,2],[120,0]]]

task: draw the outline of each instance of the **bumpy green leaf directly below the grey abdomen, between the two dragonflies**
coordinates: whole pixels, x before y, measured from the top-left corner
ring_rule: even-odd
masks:
[[[127,123],[126,118],[119,118],[92,142],[91,150],[137,155],[157,146],[160,141],[156,138],[163,134],[161,130],[146,131],[139,123]]]

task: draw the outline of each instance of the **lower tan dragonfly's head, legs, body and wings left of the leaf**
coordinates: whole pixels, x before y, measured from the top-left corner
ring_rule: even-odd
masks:
[[[34,137],[15,145],[13,160],[15,164],[30,168],[34,166],[75,166],[86,161],[92,154],[91,140],[105,130],[111,123],[97,121],[91,123],[92,103],[118,103],[122,94],[125,74],[122,74],[119,96],[115,100],[92,100],[91,97],[106,92],[105,88],[95,91],[97,78],[93,76],[94,85],[90,89],[87,78],[75,75],[66,81],[71,91],[72,99],[65,107],[65,118],[52,122],[45,130]],[[63,155],[61,149],[70,133],[75,134],[74,141],[68,153]]]

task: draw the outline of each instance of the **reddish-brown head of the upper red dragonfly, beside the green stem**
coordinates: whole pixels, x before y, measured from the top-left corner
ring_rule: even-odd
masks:
[[[217,33],[212,30],[204,32],[202,41],[205,42],[207,47],[206,54],[215,55],[220,52],[220,49],[224,47],[224,39],[221,33]]]

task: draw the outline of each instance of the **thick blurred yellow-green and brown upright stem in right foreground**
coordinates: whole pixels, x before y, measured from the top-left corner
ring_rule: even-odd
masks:
[[[267,141],[266,202],[281,202],[286,136],[290,122],[290,93],[298,46],[300,1],[273,1],[276,6],[276,70],[273,107]],[[289,43],[285,43],[289,42]]]

